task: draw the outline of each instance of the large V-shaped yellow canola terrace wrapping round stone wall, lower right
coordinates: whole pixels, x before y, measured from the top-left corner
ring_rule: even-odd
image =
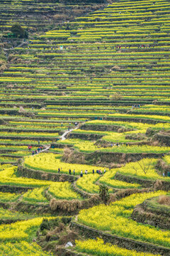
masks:
[[[148,225],[140,225],[134,220],[130,220],[132,208],[142,203],[147,198],[164,194],[163,191],[157,193],[144,193],[132,195],[128,198],[111,203],[110,206],[96,206],[88,210],[81,210],[78,220],[80,223],[89,225],[100,230],[111,230],[111,233],[125,238],[142,240],[157,245],[169,247],[169,230],[162,231]],[[101,222],[100,216],[104,215]]]

